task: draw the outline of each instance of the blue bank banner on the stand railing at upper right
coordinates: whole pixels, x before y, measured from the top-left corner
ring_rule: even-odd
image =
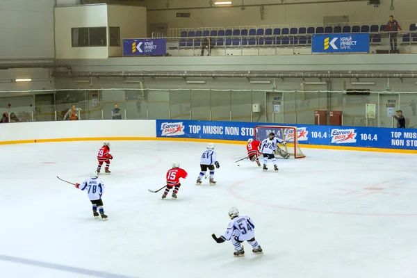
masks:
[[[313,35],[313,53],[369,52],[369,33]]]

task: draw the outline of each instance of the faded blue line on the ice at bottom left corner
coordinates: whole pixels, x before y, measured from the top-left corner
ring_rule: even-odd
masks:
[[[52,270],[59,270],[65,272],[72,272],[82,275],[90,275],[92,277],[101,277],[101,278],[137,278],[132,276],[117,275],[108,272],[101,272],[96,270],[88,270],[85,268],[74,268],[67,265],[58,265],[56,263],[45,263],[43,261],[33,261],[28,259],[17,258],[14,256],[4,256],[0,255],[0,261],[10,261],[12,263],[22,263],[24,265],[33,265],[38,266],[39,268],[49,268]]]

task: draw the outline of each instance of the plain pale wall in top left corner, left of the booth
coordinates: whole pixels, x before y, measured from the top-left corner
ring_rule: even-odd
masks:
[[[0,0],[0,59],[54,58],[55,0]]]

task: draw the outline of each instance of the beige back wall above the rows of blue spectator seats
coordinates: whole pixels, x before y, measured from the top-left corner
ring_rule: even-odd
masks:
[[[313,1],[313,0],[311,0]],[[319,2],[316,0],[314,2]],[[324,0],[322,0],[324,1]],[[203,8],[208,7],[206,0],[170,0],[170,10],[166,10],[165,0],[148,1],[148,23],[167,22],[169,28],[200,27],[200,26],[247,26],[273,24],[322,24],[325,16],[348,15],[350,22],[386,22],[389,15],[401,22],[416,19],[417,1],[395,0],[394,10],[390,10],[391,0],[381,0],[381,5],[374,8],[367,1],[346,1],[341,3],[304,3],[297,0],[286,0],[286,5],[264,6],[263,17],[259,6],[246,7],[240,10],[241,1],[233,1],[234,8]],[[306,2],[303,0],[302,2]],[[245,5],[260,3],[281,3],[276,0],[245,0]],[[200,9],[183,9],[194,8]],[[177,8],[179,8],[177,10]],[[152,11],[152,9],[165,9]],[[191,13],[190,18],[176,17],[177,13]],[[407,26],[408,29],[408,26]]]

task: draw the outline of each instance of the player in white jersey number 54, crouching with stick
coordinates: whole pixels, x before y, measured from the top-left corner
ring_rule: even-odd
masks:
[[[252,245],[252,252],[262,254],[261,245],[255,240],[255,225],[252,219],[249,216],[239,215],[238,208],[230,208],[229,217],[231,222],[224,235],[220,236],[220,238],[215,236],[215,234],[211,235],[216,243],[224,243],[226,240],[231,240],[236,250],[234,256],[245,256],[245,250],[243,250],[243,246],[240,243],[247,241],[247,243]]]

